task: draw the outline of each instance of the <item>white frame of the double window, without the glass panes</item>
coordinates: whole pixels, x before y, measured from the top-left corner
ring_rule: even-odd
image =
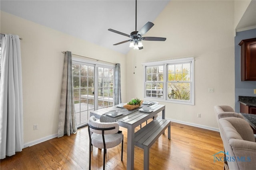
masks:
[[[184,63],[191,63],[190,64],[190,101],[185,100],[171,100],[167,97],[168,91],[168,64],[184,64]],[[168,59],[162,61],[152,61],[142,63],[144,66],[144,81],[143,81],[143,96],[144,100],[154,100],[159,102],[169,102],[169,103],[176,103],[176,104],[187,104],[187,105],[194,105],[194,57],[184,57],[178,59]],[[160,66],[164,65],[164,77],[163,77],[163,98],[155,98],[155,97],[148,97],[146,96],[146,68],[147,66]],[[152,81],[153,82],[153,81]],[[157,81],[158,82],[158,81]],[[177,81],[178,82],[178,81]],[[180,81],[181,82],[181,81]]]

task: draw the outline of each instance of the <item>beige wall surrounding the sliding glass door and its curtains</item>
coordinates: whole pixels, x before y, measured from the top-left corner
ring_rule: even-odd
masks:
[[[77,55],[121,64],[125,82],[125,55],[18,18],[1,11],[1,33],[19,35],[22,55],[24,102],[24,143],[46,138],[58,132],[61,78],[64,54]],[[122,90],[125,83],[122,84]],[[125,98],[125,94],[123,95]],[[33,125],[38,124],[38,130]]]

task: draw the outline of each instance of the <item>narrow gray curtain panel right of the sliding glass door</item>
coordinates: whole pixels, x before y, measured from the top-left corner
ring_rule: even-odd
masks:
[[[120,73],[120,64],[116,63],[115,66],[115,103],[114,105],[122,103],[121,99],[121,73]]]

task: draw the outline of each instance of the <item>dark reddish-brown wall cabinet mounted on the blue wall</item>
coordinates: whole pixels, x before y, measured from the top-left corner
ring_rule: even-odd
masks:
[[[241,80],[256,81],[256,38],[244,39],[241,46]]]

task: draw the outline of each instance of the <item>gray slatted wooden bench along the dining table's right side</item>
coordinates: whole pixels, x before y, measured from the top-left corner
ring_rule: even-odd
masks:
[[[171,139],[171,121],[157,118],[148,123],[134,135],[134,145],[144,149],[144,170],[149,169],[149,149],[164,134],[168,127],[168,139]]]

